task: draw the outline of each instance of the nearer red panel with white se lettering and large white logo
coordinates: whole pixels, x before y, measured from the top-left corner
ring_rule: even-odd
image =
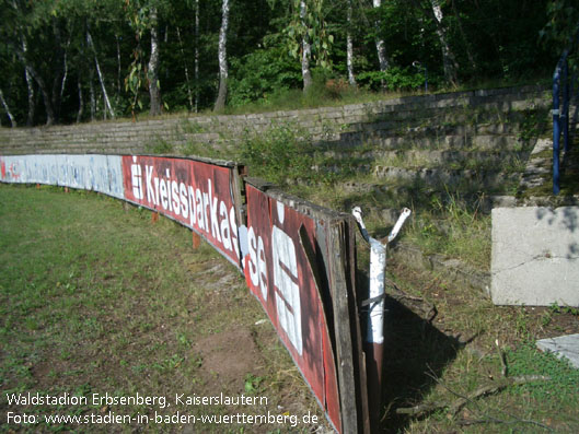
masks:
[[[328,325],[316,281],[300,239],[315,246],[315,221],[246,185],[247,239],[242,247],[247,285],[340,432],[339,398]],[[315,265],[313,265],[315,267]]]

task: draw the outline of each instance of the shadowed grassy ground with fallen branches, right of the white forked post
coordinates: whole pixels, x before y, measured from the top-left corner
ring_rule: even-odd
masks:
[[[405,294],[387,290],[384,432],[578,432],[579,370],[534,345],[579,332],[576,309],[495,306],[394,261],[389,275]],[[399,411],[415,406],[417,414]]]

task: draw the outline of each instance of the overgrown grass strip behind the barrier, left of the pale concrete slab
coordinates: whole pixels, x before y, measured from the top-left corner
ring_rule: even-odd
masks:
[[[363,183],[360,183],[363,186]],[[428,191],[428,186],[416,184],[399,188],[384,185],[380,190],[347,191],[340,183],[319,186],[289,185],[294,193],[309,200],[349,213],[355,206],[364,211],[364,223],[374,237],[390,233],[393,222],[385,221],[382,210],[399,212],[404,207],[413,211],[403,232],[405,242],[425,254],[439,254],[461,260],[479,270],[490,267],[490,215],[482,211],[484,196],[470,202],[456,192]],[[397,215],[397,214],[396,214]]]

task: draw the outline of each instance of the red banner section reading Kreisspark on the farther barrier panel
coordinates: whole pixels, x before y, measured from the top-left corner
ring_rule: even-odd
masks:
[[[240,268],[233,168],[195,160],[124,155],[125,199],[190,227]]]

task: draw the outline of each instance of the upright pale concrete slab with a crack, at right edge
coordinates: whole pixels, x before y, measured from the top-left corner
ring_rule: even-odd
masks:
[[[491,215],[493,302],[579,306],[579,207],[495,208]]]

